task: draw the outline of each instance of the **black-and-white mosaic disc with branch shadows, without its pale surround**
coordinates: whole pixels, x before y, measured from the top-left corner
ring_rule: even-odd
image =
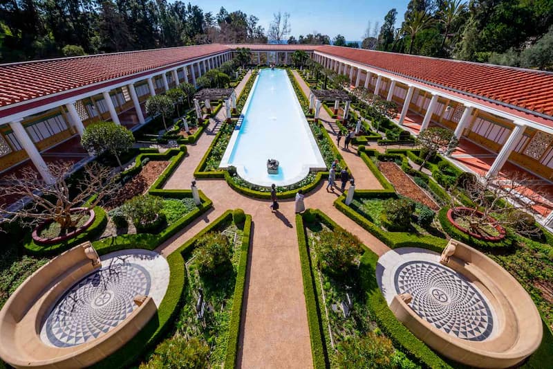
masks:
[[[80,345],[109,332],[147,296],[151,276],[141,265],[111,264],[79,281],[58,300],[42,329],[56,347]],[[42,335],[42,334],[41,334]]]

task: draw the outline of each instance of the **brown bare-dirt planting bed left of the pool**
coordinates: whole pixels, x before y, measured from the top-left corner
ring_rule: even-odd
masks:
[[[153,182],[158,179],[160,174],[167,168],[169,161],[149,161],[144,164],[140,173],[136,174],[131,180],[126,182],[110,201],[104,205],[106,210],[117,208],[124,204],[126,200],[132,199],[136,195],[147,192]]]

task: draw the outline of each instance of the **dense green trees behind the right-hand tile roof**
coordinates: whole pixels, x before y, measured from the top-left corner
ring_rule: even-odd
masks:
[[[553,1],[411,0],[391,9],[377,49],[553,70]]]

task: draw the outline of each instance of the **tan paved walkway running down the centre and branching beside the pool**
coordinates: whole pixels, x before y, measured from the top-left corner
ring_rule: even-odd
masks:
[[[236,87],[237,93],[243,89],[248,76]],[[212,120],[209,129],[216,124],[216,120]],[[332,131],[330,126],[326,128]],[[213,137],[203,134],[196,145],[188,146],[187,158],[167,181],[165,188],[190,188],[194,169],[212,143]],[[355,175],[357,188],[382,188],[353,150],[344,152],[344,159]],[[324,211],[338,224],[357,235],[375,253],[382,255],[388,251],[388,247],[371,233],[340,213],[332,205],[340,195],[339,192],[327,192],[324,187],[326,185],[321,183],[308,194],[306,206]],[[272,213],[270,201],[240,195],[221,179],[199,180],[198,188],[212,199],[213,208],[162,244],[158,251],[169,255],[226,210],[243,208],[252,215],[253,232],[238,367],[311,368],[312,354],[295,230],[294,201],[279,201],[280,211]]]

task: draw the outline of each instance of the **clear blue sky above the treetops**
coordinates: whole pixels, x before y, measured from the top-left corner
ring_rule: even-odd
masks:
[[[375,22],[382,26],[384,16],[391,8],[397,10],[396,27],[400,26],[403,15],[407,9],[409,0],[233,0],[223,2],[221,0],[193,1],[206,12],[217,14],[221,6],[228,12],[242,10],[247,15],[255,15],[259,18],[259,24],[269,28],[274,12],[289,12],[291,35],[307,35],[317,31],[323,35],[329,35],[330,39],[341,34],[348,41],[360,41],[367,28],[367,22],[371,21],[371,28]],[[287,37],[288,38],[288,37]]]

